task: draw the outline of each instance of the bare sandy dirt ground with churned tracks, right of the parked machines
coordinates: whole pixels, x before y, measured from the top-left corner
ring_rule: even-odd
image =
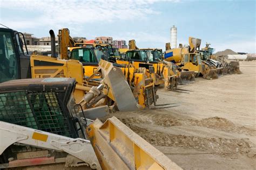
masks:
[[[256,62],[240,62],[240,75],[197,78],[159,89],[158,103],[178,107],[111,114],[184,169],[256,168]]]

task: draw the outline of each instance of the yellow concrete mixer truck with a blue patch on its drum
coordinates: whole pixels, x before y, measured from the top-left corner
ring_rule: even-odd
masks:
[[[189,37],[189,47],[172,48],[165,51],[164,59],[176,63],[184,70],[192,70],[196,77],[203,75],[204,79],[218,79],[217,69],[201,60],[199,49],[201,39]]]

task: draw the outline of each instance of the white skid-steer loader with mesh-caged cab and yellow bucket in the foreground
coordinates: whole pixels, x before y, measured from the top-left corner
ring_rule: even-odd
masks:
[[[181,169],[116,117],[88,119],[75,86],[69,78],[0,84],[1,169]]]

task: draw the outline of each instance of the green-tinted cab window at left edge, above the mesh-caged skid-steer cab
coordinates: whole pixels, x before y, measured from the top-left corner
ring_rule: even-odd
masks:
[[[9,32],[0,32],[0,61],[0,83],[18,79],[18,61]]]

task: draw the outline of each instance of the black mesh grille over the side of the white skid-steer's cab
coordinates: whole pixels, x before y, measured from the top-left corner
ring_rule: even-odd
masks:
[[[71,137],[68,118],[52,91],[0,94],[0,121]]]

